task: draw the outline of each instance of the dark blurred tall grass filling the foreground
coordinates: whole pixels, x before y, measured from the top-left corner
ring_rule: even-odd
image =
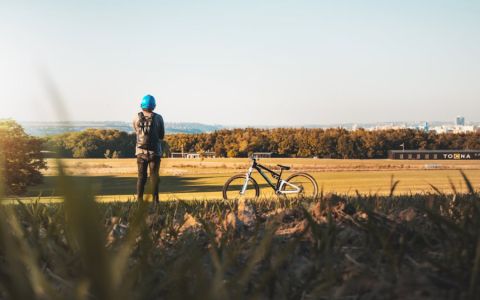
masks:
[[[0,207],[0,299],[478,299],[480,196]],[[435,189],[435,187],[432,187]],[[454,187],[452,187],[454,188]],[[0,195],[1,196],[1,195]]]

